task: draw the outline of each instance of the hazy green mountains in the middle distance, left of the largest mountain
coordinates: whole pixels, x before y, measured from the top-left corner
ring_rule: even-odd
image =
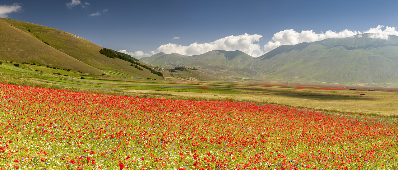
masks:
[[[201,55],[183,56],[177,53],[157,53],[140,61],[155,66],[191,66],[214,76],[222,77],[257,77],[255,70],[246,67],[254,61],[254,57],[242,51],[213,50]]]

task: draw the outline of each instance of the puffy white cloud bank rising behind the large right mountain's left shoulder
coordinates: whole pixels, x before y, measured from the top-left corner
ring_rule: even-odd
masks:
[[[314,33],[312,30],[303,30],[301,32],[297,32],[294,29],[286,29],[275,33],[272,37],[272,41],[269,41],[266,45],[264,45],[264,50],[268,52],[281,45],[295,45],[304,42],[309,43],[314,41],[321,41],[327,38],[351,37],[359,33],[361,32],[350,31],[347,29],[340,32],[334,32],[329,30],[326,31],[326,33]]]

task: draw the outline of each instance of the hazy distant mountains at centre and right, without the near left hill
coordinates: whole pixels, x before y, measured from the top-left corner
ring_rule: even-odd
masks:
[[[242,51],[201,55],[157,53],[140,61],[155,66],[186,65],[216,76],[313,80],[337,83],[398,82],[398,36],[357,34],[312,43],[282,45],[260,57]]]

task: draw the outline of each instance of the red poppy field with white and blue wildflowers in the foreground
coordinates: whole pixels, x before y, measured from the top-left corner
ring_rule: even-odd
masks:
[[[395,118],[0,84],[0,169],[397,169]]]

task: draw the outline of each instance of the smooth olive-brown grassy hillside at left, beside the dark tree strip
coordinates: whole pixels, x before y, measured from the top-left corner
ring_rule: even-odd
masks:
[[[162,78],[100,54],[102,47],[65,31],[0,18],[0,59],[70,68],[91,74]],[[45,42],[45,43],[44,43]]]

